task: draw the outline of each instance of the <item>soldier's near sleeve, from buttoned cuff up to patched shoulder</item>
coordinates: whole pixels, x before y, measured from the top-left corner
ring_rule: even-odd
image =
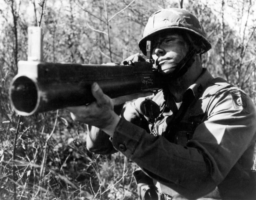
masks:
[[[195,130],[186,146],[120,120],[113,146],[150,177],[187,198],[199,198],[216,188],[255,139],[255,108],[243,98],[235,107],[230,91],[216,94],[208,118]],[[200,189],[199,189],[200,188]]]

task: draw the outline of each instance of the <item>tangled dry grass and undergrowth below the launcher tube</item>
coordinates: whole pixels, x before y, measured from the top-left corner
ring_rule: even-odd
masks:
[[[23,118],[13,159],[15,123],[1,122],[0,199],[136,199],[122,154],[86,150],[86,127],[65,111]]]

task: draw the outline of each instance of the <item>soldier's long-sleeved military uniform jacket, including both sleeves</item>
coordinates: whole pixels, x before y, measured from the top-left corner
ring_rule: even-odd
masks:
[[[203,69],[179,110],[163,91],[148,98],[160,107],[157,118],[145,117],[145,99],[136,99],[124,107],[111,141],[89,129],[88,149],[121,151],[173,199],[252,198],[256,111],[243,91]]]

